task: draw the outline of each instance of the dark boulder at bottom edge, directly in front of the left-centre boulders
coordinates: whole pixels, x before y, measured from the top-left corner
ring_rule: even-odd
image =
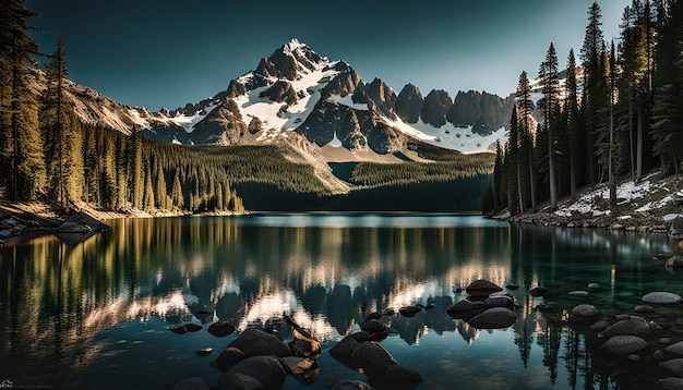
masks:
[[[230,367],[220,380],[218,389],[280,389],[287,371],[275,356],[251,356]]]

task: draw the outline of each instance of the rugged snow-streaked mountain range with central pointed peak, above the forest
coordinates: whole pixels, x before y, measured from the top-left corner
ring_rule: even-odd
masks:
[[[423,96],[411,84],[396,94],[297,39],[215,96],[175,110],[125,106],[71,82],[67,90],[86,123],[184,145],[309,144],[326,161],[418,158],[410,155],[416,142],[464,153],[492,149],[505,139],[514,105],[514,95],[469,90],[452,98],[434,89]]]

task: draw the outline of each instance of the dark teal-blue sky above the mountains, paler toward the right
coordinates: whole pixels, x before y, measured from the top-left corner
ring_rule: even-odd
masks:
[[[594,0],[27,0],[45,52],[64,35],[69,78],[127,105],[173,109],[225,89],[291,38],[366,80],[510,94],[554,42],[578,54]],[[631,0],[602,0],[606,38]]]

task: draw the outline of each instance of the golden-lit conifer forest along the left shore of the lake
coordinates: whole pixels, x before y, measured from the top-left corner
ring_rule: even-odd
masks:
[[[243,211],[221,164],[178,145],[80,122],[64,97],[64,40],[44,57],[31,38],[37,14],[23,0],[0,4],[0,195],[39,196],[62,209],[86,203],[106,210]],[[36,93],[35,80],[45,77]],[[33,85],[32,85],[33,83]]]

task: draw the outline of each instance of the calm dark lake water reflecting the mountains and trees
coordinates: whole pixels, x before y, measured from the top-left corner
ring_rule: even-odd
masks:
[[[209,366],[237,334],[168,327],[218,319],[276,328],[291,314],[323,344],[319,379],[288,389],[367,381],[327,351],[359,330],[364,314],[433,303],[412,318],[383,317],[382,345],[420,371],[419,389],[651,388],[668,376],[651,355],[639,362],[599,350],[566,313],[590,303],[601,317],[635,314],[650,291],[683,293],[683,276],[652,255],[678,251],[663,235],[511,226],[446,215],[253,215],[110,221],[85,242],[43,236],[0,249],[0,382],[14,388],[170,389],[183,378],[209,386]],[[517,322],[478,330],[446,309],[477,279],[516,283]],[[567,293],[588,290],[587,298]],[[550,289],[532,297],[530,288]],[[506,290],[507,292],[507,290]],[[554,309],[539,310],[543,302]],[[206,315],[204,312],[208,312]],[[683,307],[646,315],[683,340]],[[195,354],[213,348],[206,357]]]

